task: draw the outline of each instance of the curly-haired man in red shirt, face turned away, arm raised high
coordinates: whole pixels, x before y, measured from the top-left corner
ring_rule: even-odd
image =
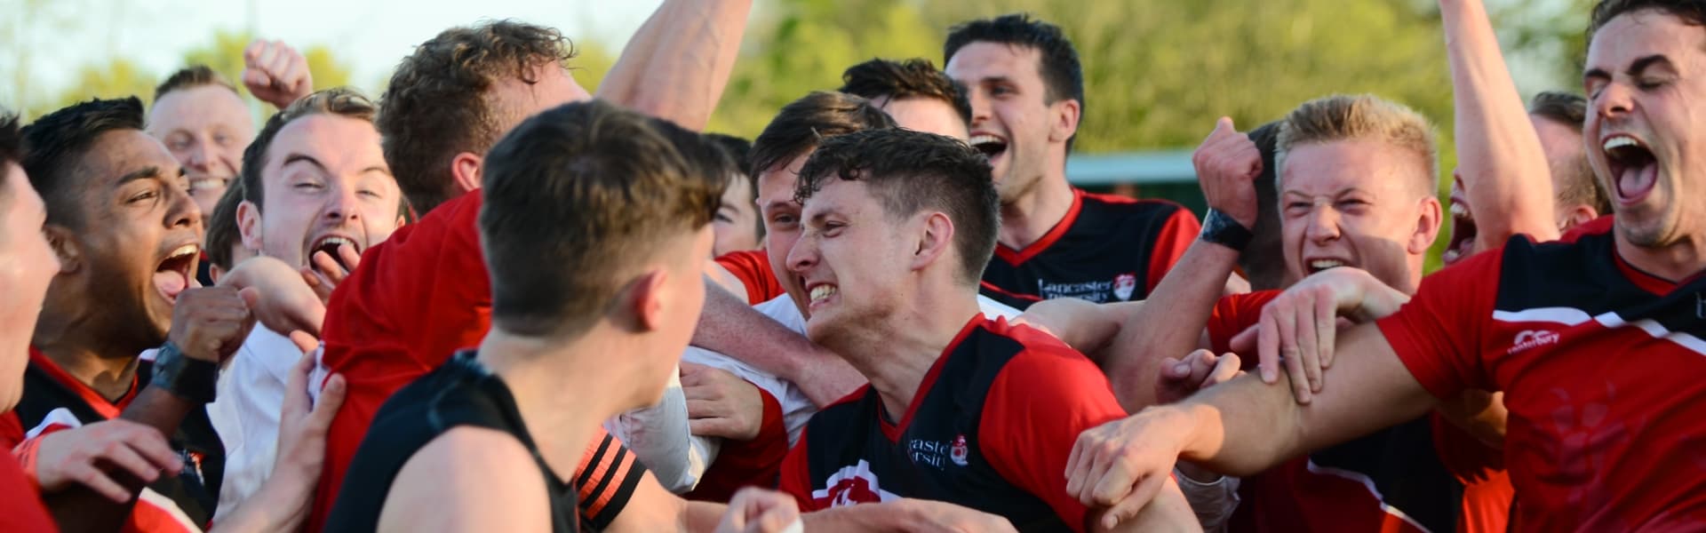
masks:
[[[746,0],[665,2],[623,48],[597,97],[703,128],[749,9]],[[473,193],[483,155],[524,118],[587,97],[563,63],[568,55],[554,29],[485,22],[423,43],[387,85],[377,121],[382,149],[421,219],[370,248],[328,302],[321,362],[348,379],[350,400],[326,442],[331,482],[321,483],[309,530],[331,511],[345,465],[384,398],[485,337],[491,285],[478,253],[481,196]],[[612,473],[609,483],[578,485],[585,526],[650,531],[674,523],[681,501],[647,480],[647,468],[616,439],[583,458],[587,472]]]

